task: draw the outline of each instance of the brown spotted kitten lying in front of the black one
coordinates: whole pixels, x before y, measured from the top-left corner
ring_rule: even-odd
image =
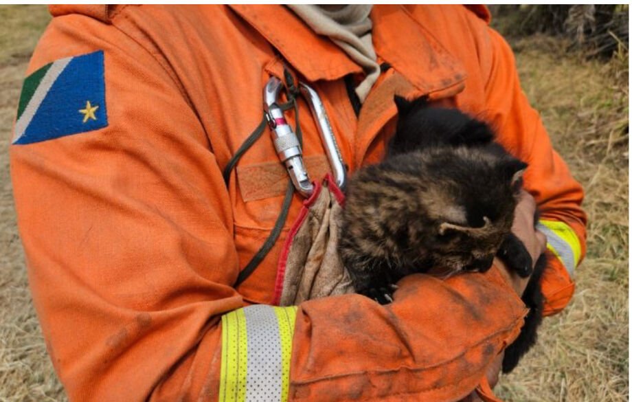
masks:
[[[349,183],[340,241],[356,291],[371,295],[431,267],[489,268],[511,229],[512,180],[522,168],[510,157],[443,147],[359,170]]]

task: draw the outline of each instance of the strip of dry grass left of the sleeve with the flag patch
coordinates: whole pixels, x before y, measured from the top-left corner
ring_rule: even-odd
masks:
[[[26,64],[49,17],[42,5],[0,6],[0,401],[65,401],[27,288],[7,150]]]

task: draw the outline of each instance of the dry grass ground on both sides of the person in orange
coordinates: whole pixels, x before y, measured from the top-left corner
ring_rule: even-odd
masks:
[[[0,402],[66,401],[29,291],[8,146],[23,74],[49,16],[0,6]],[[511,41],[523,88],[586,189],[587,258],[574,300],[545,320],[539,345],[502,377],[506,401],[628,400],[628,60],[585,61],[545,36]]]

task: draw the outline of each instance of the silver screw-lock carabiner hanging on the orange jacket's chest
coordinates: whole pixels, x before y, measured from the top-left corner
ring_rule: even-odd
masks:
[[[303,197],[309,197],[314,185],[309,179],[307,169],[303,162],[303,151],[301,149],[298,137],[283,115],[283,110],[279,106],[277,100],[283,83],[276,77],[271,77],[263,89],[263,107],[265,118],[271,129],[272,142],[274,148],[279,155],[279,159],[285,165],[288,175],[296,190]],[[327,112],[321,102],[318,93],[308,85],[300,83],[300,90],[308,101],[312,115],[314,116],[321,142],[327,153],[330,167],[335,177],[337,186],[343,190],[346,184],[346,169],[343,164],[342,155],[338,148],[336,138],[331,129],[331,124],[327,116]]]

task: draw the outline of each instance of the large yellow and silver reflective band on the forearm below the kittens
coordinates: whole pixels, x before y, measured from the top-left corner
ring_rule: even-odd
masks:
[[[219,402],[288,400],[296,306],[248,306],[222,317]]]

